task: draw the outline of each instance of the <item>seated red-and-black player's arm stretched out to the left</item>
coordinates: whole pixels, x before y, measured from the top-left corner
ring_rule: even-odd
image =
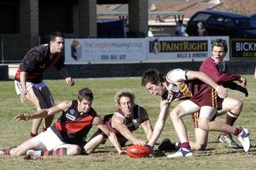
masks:
[[[53,106],[48,109],[38,110],[35,113],[33,113],[32,115],[22,113],[22,114],[17,115],[15,118],[16,118],[16,120],[31,120],[31,119],[36,119],[36,118],[45,118],[45,117],[49,117],[51,115],[55,115],[56,113],[58,113],[60,111],[67,110],[68,108],[70,108],[71,104],[72,104],[72,102],[62,102],[62,103],[58,104],[57,106]]]

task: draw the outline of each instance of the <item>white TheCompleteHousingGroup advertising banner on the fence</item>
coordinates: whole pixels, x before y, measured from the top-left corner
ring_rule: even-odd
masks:
[[[145,38],[65,39],[65,62],[145,61]]]

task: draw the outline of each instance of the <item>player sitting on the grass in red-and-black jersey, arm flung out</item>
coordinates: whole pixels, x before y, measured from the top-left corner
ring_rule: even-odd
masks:
[[[61,117],[47,131],[17,147],[1,149],[0,155],[78,155],[83,150],[86,153],[91,153],[95,148],[91,148],[92,143],[90,142],[84,145],[83,139],[92,125],[97,125],[109,137],[116,150],[121,152],[115,134],[108,130],[103,124],[102,118],[93,110],[92,101],[92,91],[84,88],[79,90],[77,99],[74,101],[62,102],[49,109],[36,111],[33,115],[17,115],[17,120],[31,120],[55,115],[62,111]]]

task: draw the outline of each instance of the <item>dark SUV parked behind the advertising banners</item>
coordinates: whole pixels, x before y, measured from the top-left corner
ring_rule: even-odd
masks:
[[[208,36],[256,38],[256,19],[223,11],[198,11],[190,18],[186,33],[198,36],[198,22],[202,22]]]

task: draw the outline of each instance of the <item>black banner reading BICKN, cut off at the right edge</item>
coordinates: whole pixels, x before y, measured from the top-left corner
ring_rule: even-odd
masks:
[[[232,59],[256,59],[256,39],[231,39]]]

